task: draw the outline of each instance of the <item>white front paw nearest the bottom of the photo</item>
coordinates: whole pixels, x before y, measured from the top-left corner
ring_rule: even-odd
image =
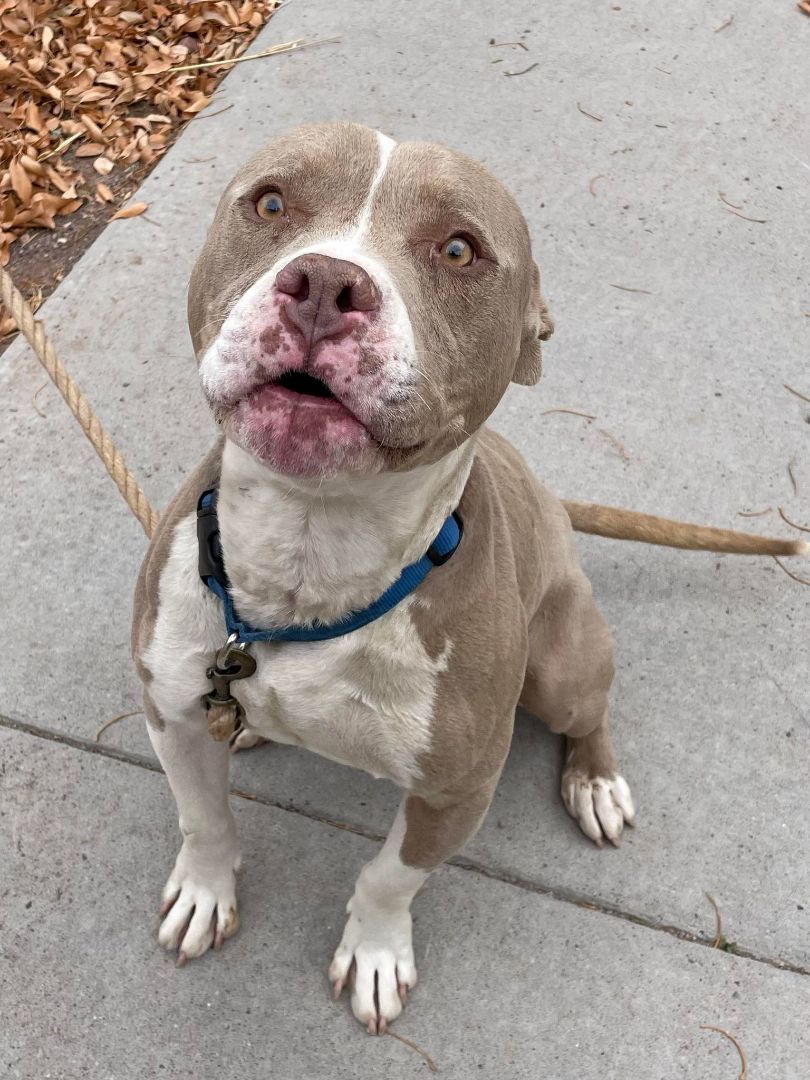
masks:
[[[329,967],[335,998],[348,984],[352,1012],[369,1035],[382,1035],[416,986],[410,912],[360,909],[356,896]]]

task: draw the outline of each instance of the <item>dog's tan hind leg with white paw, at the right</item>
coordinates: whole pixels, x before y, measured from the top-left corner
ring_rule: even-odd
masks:
[[[618,845],[624,824],[635,823],[608,729],[612,677],[610,632],[578,572],[550,591],[530,623],[521,704],[565,734],[563,801],[599,847],[605,838]]]

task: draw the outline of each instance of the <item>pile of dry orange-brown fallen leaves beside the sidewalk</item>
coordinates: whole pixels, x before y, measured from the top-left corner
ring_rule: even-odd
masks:
[[[176,69],[239,55],[278,6],[0,0],[0,266],[27,229],[112,202],[105,177],[159,158],[228,71]],[[78,158],[92,159],[92,180]]]

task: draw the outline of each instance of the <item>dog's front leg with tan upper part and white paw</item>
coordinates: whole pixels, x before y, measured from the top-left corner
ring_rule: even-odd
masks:
[[[416,986],[410,903],[430,872],[477,831],[494,787],[454,800],[407,796],[379,854],[360,873],[329,978],[335,997],[350,982],[352,1011],[373,1035],[400,1015]]]

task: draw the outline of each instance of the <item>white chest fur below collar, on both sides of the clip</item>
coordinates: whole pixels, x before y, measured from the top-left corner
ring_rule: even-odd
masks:
[[[150,694],[170,721],[200,714],[205,675],[226,630],[218,600],[197,573],[195,519],[181,522],[160,583],[145,661]],[[329,642],[256,642],[256,672],[231,684],[247,726],[408,786],[429,750],[437,678],[450,644],[431,659],[410,616],[413,598]]]

